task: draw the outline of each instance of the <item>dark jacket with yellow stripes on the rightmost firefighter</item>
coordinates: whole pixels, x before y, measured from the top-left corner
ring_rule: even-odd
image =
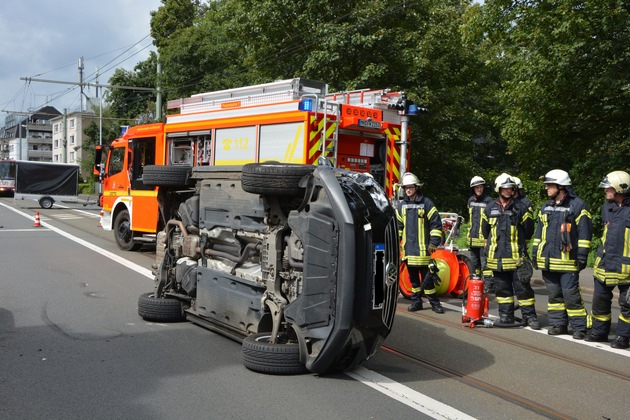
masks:
[[[621,206],[602,206],[604,235],[597,250],[595,278],[608,286],[630,284],[630,197]]]

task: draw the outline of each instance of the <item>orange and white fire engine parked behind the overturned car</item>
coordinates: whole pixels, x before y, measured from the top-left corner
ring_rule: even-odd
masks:
[[[325,83],[295,78],[197,94],[169,101],[168,109],[176,113],[165,123],[128,128],[107,156],[97,150],[101,225],[124,250],[155,241],[168,221],[168,203],[160,203],[160,186],[145,182],[147,173],[162,187],[186,188],[196,166],[317,165],[325,158],[370,174],[391,197],[417,107],[403,92],[329,93]]]

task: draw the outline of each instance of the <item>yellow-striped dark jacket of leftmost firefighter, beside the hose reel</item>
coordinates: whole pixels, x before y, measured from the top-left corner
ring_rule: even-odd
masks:
[[[429,244],[442,242],[442,220],[433,202],[423,195],[403,198],[396,209],[402,259],[409,265],[429,265]]]

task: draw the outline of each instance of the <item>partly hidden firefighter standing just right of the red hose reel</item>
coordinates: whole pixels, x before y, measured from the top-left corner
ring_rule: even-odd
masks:
[[[470,259],[475,267],[475,274],[484,280],[486,293],[494,293],[492,271],[486,266],[484,251],[486,239],[481,233],[481,215],[488,203],[492,202],[492,198],[488,195],[486,181],[480,176],[474,176],[470,180],[470,189],[472,190],[472,195],[468,198],[470,227],[466,238],[470,249]]]

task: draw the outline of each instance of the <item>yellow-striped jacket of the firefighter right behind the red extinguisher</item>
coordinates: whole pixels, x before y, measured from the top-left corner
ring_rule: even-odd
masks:
[[[525,255],[524,208],[510,199],[505,208],[493,201],[486,206],[481,230],[486,237],[486,264],[493,271],[516,270],[516,263]]]

